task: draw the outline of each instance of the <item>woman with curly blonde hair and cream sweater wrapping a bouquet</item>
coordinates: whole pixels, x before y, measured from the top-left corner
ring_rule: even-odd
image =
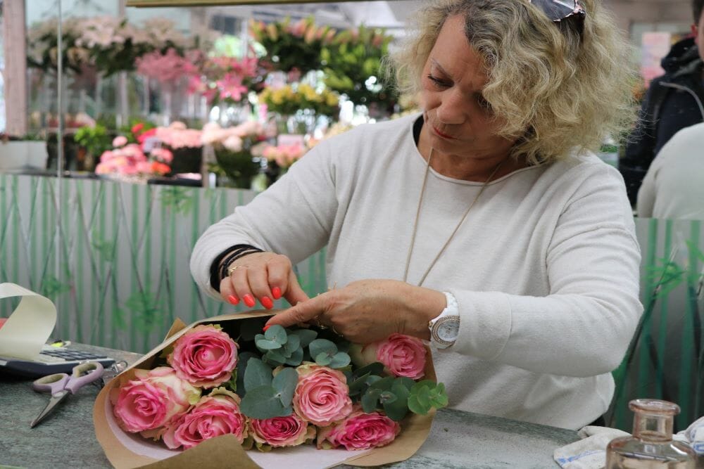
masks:
[[[394,56],[423,112],[323,141],[206,231],[191,271],[352,342],[429,340],[457,409],[580,428],[641,314],[623,181],[630,50],[596,0],[434,0]],[[308,298],[292,264],[327,245]]]

